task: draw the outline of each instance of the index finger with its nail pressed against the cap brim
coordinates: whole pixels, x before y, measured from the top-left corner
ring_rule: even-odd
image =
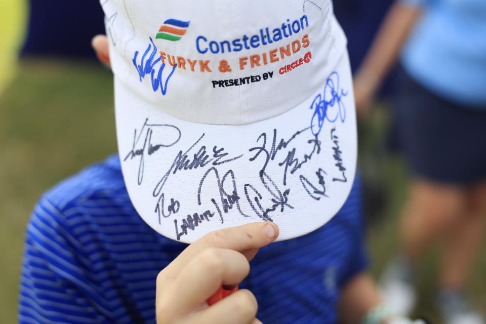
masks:
[[[207,248],[230,249],[238,252],[264,247],[278,237],[278,226],[271,222],[259,222],[211,232],[187,247],[161,275],[173,280],[183,267],[197,254]],[[250,253],[253,257],[254,254]],[[251,259],[250,259],[251,260]]]

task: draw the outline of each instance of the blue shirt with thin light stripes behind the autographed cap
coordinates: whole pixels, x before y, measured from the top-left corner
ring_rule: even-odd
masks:
[[[260,249],[241,283],[264,323],[335,323],[339,292],[366,267],[359,181],[320,229]],[[60,183],[28,224],[21,323],[155,323],[155,278],[184,248],[135,211],[117,156]]]

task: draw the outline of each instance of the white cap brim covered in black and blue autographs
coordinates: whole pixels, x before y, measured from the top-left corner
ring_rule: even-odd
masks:
[[[153,229],[175,240],[190,243],[257,221],[278,224],[279,240],[294,238],[328,222],[351,190],[357,136],[347,54],[318,92],[256,123],[175,118],[116,76],[115,112],[132,203]]]

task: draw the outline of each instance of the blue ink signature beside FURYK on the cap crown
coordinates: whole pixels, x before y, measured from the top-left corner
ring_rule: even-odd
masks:
[[[174,64],[172,67],[172,71],[169,74],[169,76],[166,78],[166,82],[163,83],[162,80],[162,72],[164,72],[164,68],[166,67],[166,63],[163,63],[160,65],[158,68],[157,76],[155,76],[155,65],[161,61],[161,57],[159,56],[155,61],[155,55],[157,55],[157,47],[155,44],[153,44],[152,37],[150,37],[150,43],[147,49],[145,50],[145,53],[142,55],[142,61],[140,64],[137,64],[137,58],[138,58],[138,51],[135,52],[135,56],[133,58],[133,65],[138,71],[138,75],[140,76],[140,82],[142,82],[142,79],[145,78],[145,75],[150,74],[151,80],[152,80],[152,89],[153,92],[157,92],[158,88],[160,87],[160,91],[162,92],[162,95],[165,96],[167,93],[167,84],[169,83],[169,80],[174,74],[174,71],[176,70],[177,64]],[[150,50],[152,52],[150,53]],[[147,58],[148,53],[150,53],[150,56]],[[146,59],[146,60],[145,60]]]

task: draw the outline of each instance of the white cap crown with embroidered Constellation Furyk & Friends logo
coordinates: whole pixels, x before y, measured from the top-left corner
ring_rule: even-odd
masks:
[[[330,0],[101,0],[113,71],[142,100],[205,124],[267,119],[320,89],[346,38]]]

